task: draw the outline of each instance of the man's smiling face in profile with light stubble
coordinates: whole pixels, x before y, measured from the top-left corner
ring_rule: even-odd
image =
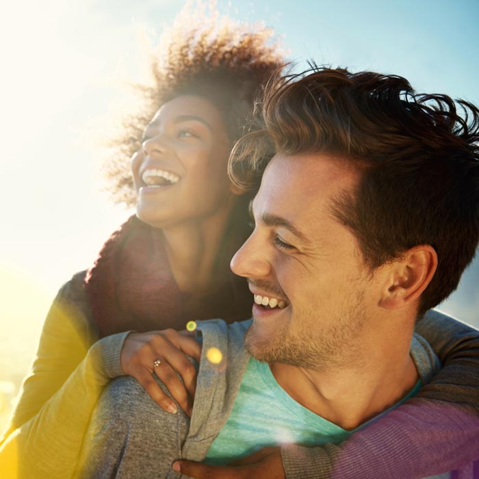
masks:
[[[330,209],[358,179],[321,153],[268,164],[253,201],[255,231],[231,261],[255,295],[245,344],[260,361],[315,370],[358,363],[378,283]]]

